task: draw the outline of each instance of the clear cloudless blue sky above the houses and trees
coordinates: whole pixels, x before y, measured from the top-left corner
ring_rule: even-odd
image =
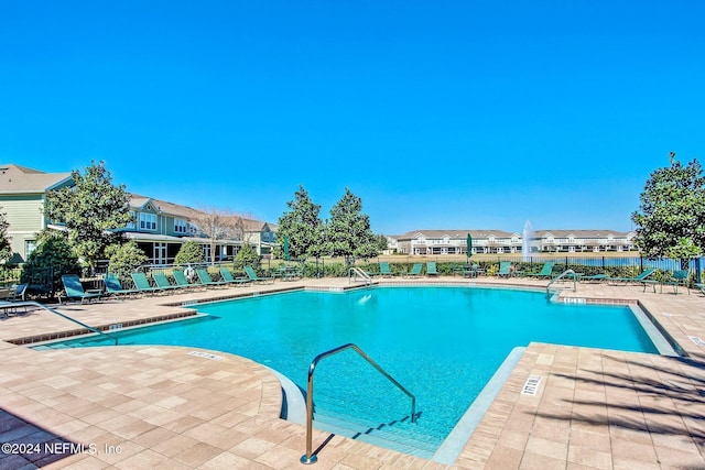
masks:
[[[0,163],[276,222],[632,228],[705,161],[705,2],[2,1]]]

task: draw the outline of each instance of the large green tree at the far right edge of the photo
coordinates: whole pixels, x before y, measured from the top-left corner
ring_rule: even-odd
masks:
[[[697,160],[686,166],[674,161],[652,172],[631,220],[637,245],[647,256],[687,260],[705,252],[705,177]]]

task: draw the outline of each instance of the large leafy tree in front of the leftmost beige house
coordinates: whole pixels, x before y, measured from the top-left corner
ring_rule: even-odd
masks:
[[[105,249],[120,239],[117,229],[130,222],[130,195],[124,185],[115,186],[105,162],[91,162],[85,174],[74,171],[75,186],[46,195],[46,216],[64,223],[68,241],[91,267]]]

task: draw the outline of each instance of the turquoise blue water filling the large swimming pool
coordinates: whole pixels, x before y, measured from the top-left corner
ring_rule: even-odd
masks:
[[[432,447],[453,429],[514,347],[539,341],[658,353],[628,307],[551,303],[538,292],[295,292],[204,304],[198,310],[210,317],[124,331],[118,334],[120,343],[231,352],[278,370],[305,390],[313,358],[352,342],[416,395],[421,416],[413,431]],[[354,417],[364,429],[408,426],[406,396],[352,351],[322,361],[315,383],[322,416]]]

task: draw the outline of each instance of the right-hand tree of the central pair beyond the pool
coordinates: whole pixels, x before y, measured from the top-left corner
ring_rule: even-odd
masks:
[[[334,256],[368,259],[377,255],[377,240],[370,229],[369,216],[361,212],[362,199],[345,188],[345,194],[330,209],[326,227],[326,251]]]

